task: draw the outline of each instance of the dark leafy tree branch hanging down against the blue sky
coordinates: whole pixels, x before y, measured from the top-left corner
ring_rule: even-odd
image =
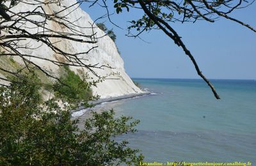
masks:
[[[205,77],[200,70],[193,53],[189,51],[186,44],[183,42],[183,38],[175,30],[175,22],[197,22],[198,20],[205,20],[207,22],[215,22],[216,20],[223,18],[232,20],[241,26],[256,32],[256,29],[245,22],[232,17],[238,9],[247,8],[255,3],[255,1],[236,1],[236,0],[114,0],[113,8],[116,13],[122,13],[123,11],[141,10],[142,14],[139,19],[130,20],[131,23],[128,29],[127,36],[139,37],[140,34],[152,31],[154,29],[160,29],[166,34],[170,40],[174,41],[175,45],[180,47],[184,53],[191,59],[197,74],[205,81],[205,83],[211,88],[212,93],[216,99],[220,99],[220,96],[216,92],[214,86]],[[107,9],[107,15],[109,19],[109,9],[107,4],[102,1],[100,4]],[[131,11],[132,12],[132,11]],[[140,12],[136,12],[140,13]],[[110,20],[110,19],[109,19]],[[112,22],[110,20],[110,22]],[[139,37],[140,38],[140,37]]]

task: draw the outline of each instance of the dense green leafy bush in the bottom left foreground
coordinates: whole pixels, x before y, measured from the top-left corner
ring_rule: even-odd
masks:
[[[139,121],[115,119],[113,110],[93,112],[79,129],[70,107],[60,107],[54,99],[39,105],[39,84],[29,84],[28,77],[20,82],[24,84],[0,87],[0,165],[129,165],[142,161],[143,156],[127,147],[127,141],[115,141],[118,135],[136,132]]]

